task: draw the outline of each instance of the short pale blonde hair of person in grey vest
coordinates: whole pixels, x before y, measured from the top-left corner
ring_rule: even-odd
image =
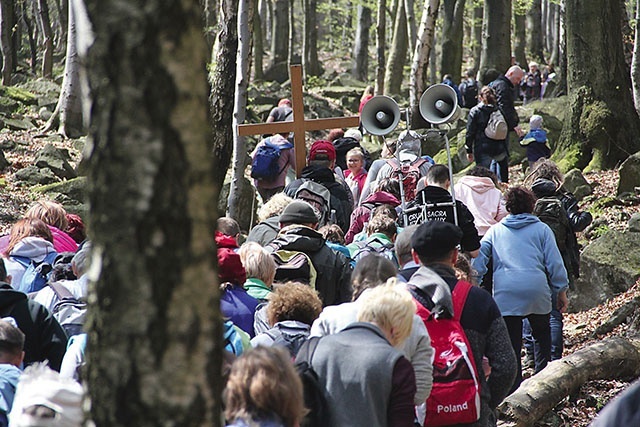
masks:
[[[385,332],[392,333],[391,345],[407,339],[411,333],[416,305],[409,291],[396,284],[393,277],[384,285],[362,294],[359,299],[358,321],[375,323]]]

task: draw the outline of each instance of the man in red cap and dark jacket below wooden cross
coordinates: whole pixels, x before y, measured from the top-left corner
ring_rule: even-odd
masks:
[[[295,198],[299,187],[305,181],[323,185],[331,194],[330,209],[335,211],[330,217],[334,216],[335,223],[346,233],[353,211],[353,195],[344,180],[334,174],[335,162],[336,149],[333,144],[325,140],[315,141],[309,149],[307,166],[302,169],[300,178],[287,185],[284,191],[287,196]]]

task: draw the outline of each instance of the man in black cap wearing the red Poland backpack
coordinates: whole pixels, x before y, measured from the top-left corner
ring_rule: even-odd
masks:
[[[422,296],[416,299],[418,303],[437,316],[453,315],[451,293],[458,285],[453,266],[458,259],[457,246],[462,235],[462,230],[453,224],[427,221],[418,227],[411,239],[413,258],[421,267],[411,276],[409,286],[419,290],[414,293]],[[469,290],[460,324],[480,374],[480,419],[467,425],[495,426],[495,408],[509,393],[517,369],[507,327],[491,295],[476,286]],[[480,368],[483,357],[489,364],[484,375]]]

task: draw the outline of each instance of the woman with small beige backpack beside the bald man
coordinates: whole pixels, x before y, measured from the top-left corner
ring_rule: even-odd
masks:
[[[485,86],[480,90],[480,103],[469,111],[467,120],[467,136],[465,149],[470,162],[484,166],[496,172],[499,167],[500,180],[507,182],[509,170],[508,141],[494,140],[485,135],[485,128],[489,123],[491,113],[498,110],[498,101],[492,88]]]

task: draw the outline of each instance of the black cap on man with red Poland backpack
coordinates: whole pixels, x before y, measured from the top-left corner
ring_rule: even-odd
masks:
[[[445,257],[462,239],[462,230],[445,221],[426,221],[411,237],[411,246],[420,256],[431,259]]]

